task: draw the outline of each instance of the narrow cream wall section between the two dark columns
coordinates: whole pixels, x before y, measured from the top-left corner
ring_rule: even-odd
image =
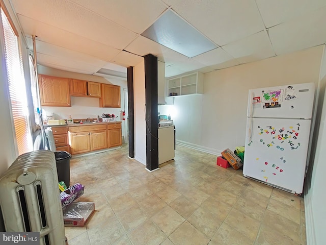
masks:
[[[146,166],[145,62],[133,67],[134,159]]]

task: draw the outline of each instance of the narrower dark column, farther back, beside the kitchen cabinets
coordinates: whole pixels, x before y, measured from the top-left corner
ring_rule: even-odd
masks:
[[[127,68],[129,157],[134,158],[133,67]]]

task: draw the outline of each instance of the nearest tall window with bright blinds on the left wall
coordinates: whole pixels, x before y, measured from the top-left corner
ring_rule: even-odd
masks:
[[[1,19],[5,40],[5,61],[9,86],[9,97],[16,134],[18,154],[33,150],[29,126],[29,112],[26,98],[22,59],[18,45],[18,33],[1,5]]]

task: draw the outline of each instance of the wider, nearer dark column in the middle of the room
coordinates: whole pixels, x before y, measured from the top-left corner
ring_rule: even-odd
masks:
[[[157,57],[145,55],[146,168],[158,168]]]

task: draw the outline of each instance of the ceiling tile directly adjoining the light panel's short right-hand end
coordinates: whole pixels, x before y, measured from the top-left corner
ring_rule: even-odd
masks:
[[[204,65],[210,66],[224,63],[226,61],[233,60],[234,58],[219,47],[215,48],[215,50],[198,55],[193,59]]]

